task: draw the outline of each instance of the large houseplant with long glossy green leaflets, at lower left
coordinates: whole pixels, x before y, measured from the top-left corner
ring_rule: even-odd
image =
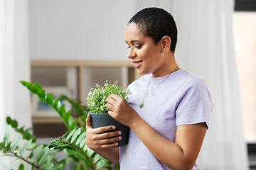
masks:
[[[7,124],[18,133],[14,139],[10,139],[11,132],[8,130],[4,135],[4,140],[0,140],[0,156],[11,156],[22,159],[32,166],[32,169],[61,169],[64,170],[67,162],[73,162],[75,170],[85,169],[119,169],[119,165],[113,164],[100,157],[99,154],[89,149],[85,144],[86,129],[85,118],[87,109],[81,105],[80,101],[73,101],[66,96],[53,98],[50,93],[46,93],[39,84],[31,84],[27,81],[21,81],[23,86],[39,96],[40,101],[48,103],[60,115],[68,132],[58,139],[43,145],[36,145],[36,136],[33,135],[32,128],[19,128],[16,120],[10,117],[6,118]],[[65,104],[60,100],[67,100],[71,103],[78,116],[73,117],[70,111],[65,111]],[[24,145],[19,145],[20,140],[25,140]],[[65,152],[64,159],[58,159],[56,154]],[[28,154],[29,153],[29,154]],[[18,170],[23,170],[24,164],[21,164]]]

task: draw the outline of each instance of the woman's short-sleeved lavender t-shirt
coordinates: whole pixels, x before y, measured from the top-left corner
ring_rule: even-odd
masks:
[[[132,91],[129,104],[160,135],[174,142],[178,125],[203,122],[209,125],[212,102],[202,79],[184,69],[174,72],[167,79],[167,76],[151,78],[149,84],[150,77],[151,74],[146,74],[128,86],[127,89]],[[149,84],[150,91],[161,81],[144,101],[144,107],[139,108],[146,86]],[[128,144],[120,147],[119,161],[121,170],[169,169],[149,152],[132,129]],[[197,164],[193,166],[193,170],[196,169]]]

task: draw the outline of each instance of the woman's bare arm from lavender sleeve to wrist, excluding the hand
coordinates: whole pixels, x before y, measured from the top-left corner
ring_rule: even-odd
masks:
[[[131,128],[156,159],[171,169],[183,170],[192,169],[207,130],[206,123],[180,125],[175,142],[171,142],[144,120],[135,121]]]

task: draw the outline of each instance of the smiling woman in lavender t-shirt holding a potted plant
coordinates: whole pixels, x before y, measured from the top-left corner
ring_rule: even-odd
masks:
[[[176,41],[174,18],[161,8],[144,8],[127,25],[127,57],[143,76],[129,84],[129,103],[112,94],[106,104],[131,128],[126,146],[116,147],[120,132],[107,132],[115,127],[93,129],[87,117],[87,146],[121,169],[198,169],[212,103],[204,81],[178,67]]]

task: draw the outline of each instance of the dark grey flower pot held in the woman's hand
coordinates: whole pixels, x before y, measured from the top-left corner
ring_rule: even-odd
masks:
[[[112,118],[108,113],[90,113],[90,115],[92,118],[92,128],[100,128],[102,126],[114,125],[116,128],[112,131],[120,130],[122,132],[122,140],[117,141],[117,147],[127,145],[129,138],[128,126],[119,123],[119,121]]]

